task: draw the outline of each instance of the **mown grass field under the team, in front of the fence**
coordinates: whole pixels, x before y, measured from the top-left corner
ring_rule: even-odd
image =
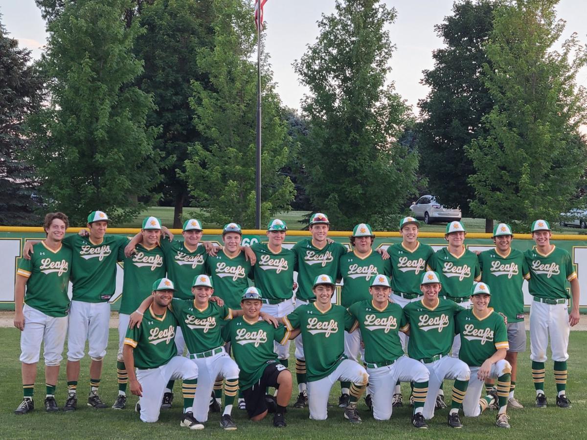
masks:
[[[12,411],[22,400],[21,368],[18,361],[19,331],[16,329],[0,329],[2,357],[0,358],[0,383],[2,384],[2,399],[0,400],[0,437],[8,438],[315,438],[315,439],[379,439],[390,438],[423,438],[423,439],[476,439],[476,438],[541,438],[541,439],[574,439],[587,437],[587,400],[585,384],[587,383],[587,345],[586,331],[572,331],[569,344],[569,398],[573,403],[572,409],[560,409],[555,406],[555,384],[552,376],[552,361],[546,363],[546,395],[549,407],[546,409],[533,408],[534,387],[530,374],[529,353],[522,353],[519,361],[517,398],[526,408],[510,411],[509,431],[494,427],[495,412],[486,411],[478,418],[462,418],[463,429],[451,429],[446,425],[448,409],[437,411],[436,417],[429,421],[429,429],[417,431],[410,425],[411,410],[409,407],[396,408],[390,421],[375,421],[367,411],[364,400],[359,404],[359,412],[363,418],[362,425],[350,425],[343,420],[343,409],[333,407],[329,409],[329,418],[326,421],[311,421],[308,419],[308,409],[288,408],[286,420],[288,427],[277,430],[271,426],[271,418],[261,422],[250,422],[245,412],[235,408],[232,412],[238,430],[234,432],[222,431],[218,422],[220,415],[211,414],[204,431],[192,432],[187,428],[179,427],[181,415],[181,388],[176,384],[176,400],[173,408],[161,412],[160,421],[155,424],[144,424],[139,421],[133,411],[137,398],[129,397],[127,409],[114,411],[113,409],[95,410],[86,406],[84,397],[89,388],[88,368],[89,360],[82,360],[82,374],[78,384],[78,408],[75,412],[59,412],[48,414],[43,407],[45,398],[45,383],[42,361],[35,385],[35,411],[32,414],[17,416]],[[116,396],[116,344],[117,331],[110,330],[109,351],[104,359],[104,373],[100,395],[104,402],[112,404]],[[529,341],[528,341],[529,343]],[[293,344],[292,344],[293,347]],[[293,348],[292,356],[293,359]],[[292,364],[290,369],[292,370]],[[295,374],[294,374],[295,377]],[[583,385],[581,385],[583,384]],[[451,390],[452,384],[447,381],[444,390]],[[404,399],[409,395],[409,387],[402,384]],[[295,387],[296,389],[296,387]],[[332,389],[330,402],[338,402],[340,387],[338,384]],[[66,395],[65,360],[60,372],[56,397],[59,405],[63,405]],[[447,392],[450,400],[450,391]],[[294,398],[292,397],[292,402]]]

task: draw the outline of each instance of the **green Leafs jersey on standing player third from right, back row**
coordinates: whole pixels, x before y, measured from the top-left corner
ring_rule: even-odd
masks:
[[[441,296],[468,297],[473,283],[481,279],[477,255],[468,249],[457,256],[448,252],[448,248],[442,248],[431,256],[428,265],[440,275]]]

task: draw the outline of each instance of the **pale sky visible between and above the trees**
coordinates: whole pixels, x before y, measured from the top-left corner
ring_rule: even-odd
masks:
[[[453,0],[386,0],[387,6],[396,8],[397,18],[389,26],[394,52],[389,80],[396,92],[412,106],[417,114],[417,102],[426,97],[429,89],[420,84],[422,71],[434,67],[432,52],[443,42],[434,25],[451,15]],[[322,13],[334,11],[334,0],[268,0],[264,8],[266,50],[271,56],[274,80],[282,102],[299,109],[306,87],[298,82],[292,63],[300,59],[308,44],[318,36],[316,22]],[[587,7],[585,0],[561,0],[558,17],[566,21],[562,39],[572,32],[587,43]],[[32,50],[38,58],[45,44],[45,22],[34,0],[0,0],[1,21],[12,38]],[[587,87],[587,68],[581,70],[577,82]]]

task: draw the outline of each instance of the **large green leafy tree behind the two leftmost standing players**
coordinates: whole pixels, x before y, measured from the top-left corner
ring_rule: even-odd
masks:
[[[49,103],[29,119],[28,159],[49,207],[73,224],[95,209],[115,222],[132,218],[159,180],[156,130],[146,127],[152,99],[132,85],[142,63],[132,53],[139,23],[122,19],[130,7],[130,0],[66,2],[48,23],[41,68]]]

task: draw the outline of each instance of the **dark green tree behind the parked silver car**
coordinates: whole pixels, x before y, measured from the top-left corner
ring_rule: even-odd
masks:
[[[464,216],[475,198],[467,182],[473,163],[464,147],[480,136],[481,119],[493,105],[481,73],[489,62],[483,46],[494,7],[488,0],[455,2],[453,15],[434,27],[445,46],[433,52],[434,69],[424,70],[421,80],[430,92],[418,103],[420,172],[429,178],[431,193]]]

